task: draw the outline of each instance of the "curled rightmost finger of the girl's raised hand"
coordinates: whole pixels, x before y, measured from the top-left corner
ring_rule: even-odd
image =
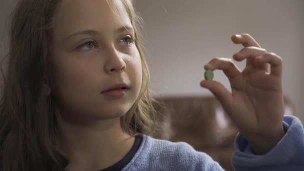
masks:
[[[260,63],[270,64],[270,74],[274,76],[282,75],[282,58],[275,53],[267,52],[262,56],[258,56],[255,59]]]

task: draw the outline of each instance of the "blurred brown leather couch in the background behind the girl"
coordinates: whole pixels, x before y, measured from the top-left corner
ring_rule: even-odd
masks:
[[[238,130],[211,96],[158,97],[163,106],[156,138],[184,141],[209,154],[225,170],[233,170],[233,140]],[[294,114],[294,105],[285,97],[285,113]]]

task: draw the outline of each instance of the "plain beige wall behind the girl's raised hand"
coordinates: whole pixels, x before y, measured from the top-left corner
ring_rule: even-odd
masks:
[[[304,118],[304,0],[135,2],[144,20],[151,88],[158,95],[210,94],[199,87],[203,65],[213,56],[231,57],[241,48],[231,34],[248,32],[283,58],[284,93]],[[229,88],[221,71],[215,79]]]

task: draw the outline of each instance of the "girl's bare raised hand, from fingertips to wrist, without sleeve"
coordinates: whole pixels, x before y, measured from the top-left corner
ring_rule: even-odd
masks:
[[[246,60],[241,71],[229,58],[213,58],[205,69],[220,69],[228,77],[231,93],[219,82],[202,80],[222,104],[257,154],[269,151],[284,135],[282,93],[282,59],[268,52],[247,33],[231,37],[243,48],[233,55],[236,61]]]

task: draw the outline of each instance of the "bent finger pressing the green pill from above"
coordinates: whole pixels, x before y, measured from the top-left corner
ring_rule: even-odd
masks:
[[[204,69],[220,69],[229,79],[232,79],[241,72],[231,59],[223,57],[211,59],[206,65],[204,65]]]

